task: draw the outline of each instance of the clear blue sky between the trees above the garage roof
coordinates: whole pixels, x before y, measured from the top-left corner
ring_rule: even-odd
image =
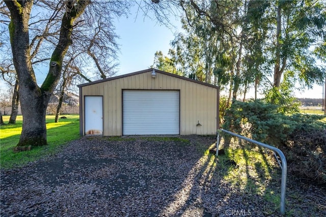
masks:
[[[162,51],[168,55],[170,41],[174,39],[175,27],[160,25],[146,17],[142,12],[136,18],[137,8],[131,9],[131,15],[116,20],[116,33],[120,37],[119,72],[118,75],[141,71],[153,65],[154,54]],[[174,25],[178,22],[171,18]],[[179,24],[180,26],[180,24]]]

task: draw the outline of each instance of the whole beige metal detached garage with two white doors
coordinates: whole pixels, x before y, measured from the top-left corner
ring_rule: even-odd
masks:
[[[80,135],[215,135],[219,88],[148,69],[78,85]]]

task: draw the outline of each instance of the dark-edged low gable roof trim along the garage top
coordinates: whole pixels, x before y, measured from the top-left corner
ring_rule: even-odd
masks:
[[[212,85],[212,84],[204,83],[204,82],[197,81],[197,80],[194,80],[194,79],[191,79],[191,78],[186,78],[186,77],[183,77],[183,76],[180,76],[180,75],[172,74],[172,73],[169,73],[169,72],[165,72],[165,71],[161,71],[161,70],[153,69],[153,68],[149,68],[149,69],[138,71],[138,72],[132,72],[132,73],[124,74],[124,75],[119,75],[119,76],[115,76],[115,77],[111,77],[111,78],[105,78],[105,79],[102,79],[102,80],[92,81],[92,82],[88,82],[88,83],[84,83],[84,84],[79,84],[77,86],[78,87],[83,87],[83,86],[102,83],[102,82],[106,82],[106,81],[112,81],[112,80],[125,78],[125,77],[129,77],[129,76],[133,76],[133,75],[138,75],[138,74],[142,74],[142,73],[146,73],[146,72],[151,72],[153,70],[155,70],[156,73],[161,73],[161,74],[164,74],[164,75],[176,77],[176,78],[183,79],[183,80],[190,81],[190,82],[195,82],[195,83],[202,84],[202,85],[209,86],[209,87],[213,87],[213,88],[219,88],[218,86],[215,86],[215,85]]]

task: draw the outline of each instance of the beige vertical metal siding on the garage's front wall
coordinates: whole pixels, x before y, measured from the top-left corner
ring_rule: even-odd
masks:
[[[122,135],[122,89],[179,89],[180,134],[216,134],[217,88],[161,73],[152,78],[151,72],[81,88],[83,96],[103,95],[104,136]],[[196,126],[198,120],[202,126]]]

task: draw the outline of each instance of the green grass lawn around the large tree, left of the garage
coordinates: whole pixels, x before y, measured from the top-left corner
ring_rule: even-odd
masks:
[[[3,125],[0,129],[1,168],[12,168],[26,165],[48,154],[56,153],[59,147],[79,138],[79,115],[65,115],[67,119],[59,119],[55,123],[54,115],[46,116],[47,143],[41,147],[33,147],[30,151],[14,153],[22,128],[22,116],[18,115],[15,125]],[[8,123],[9,116],[3,116]]]

